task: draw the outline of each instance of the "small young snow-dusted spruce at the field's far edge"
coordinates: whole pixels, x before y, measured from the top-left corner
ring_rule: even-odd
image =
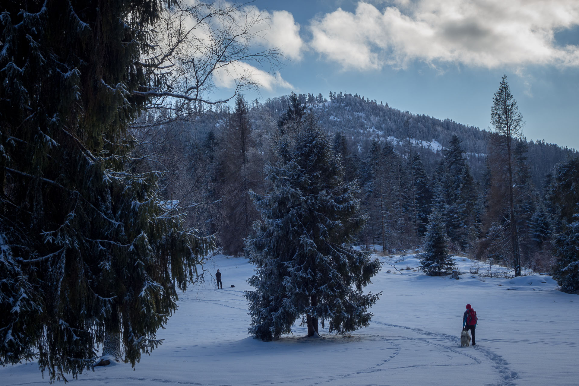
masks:
[[[420,254],[420,265],[428,276],[448,275],[455,269],[455,261],[448,254],[448,240],[439,212],[435,209],[428,218],[424,252]]]

